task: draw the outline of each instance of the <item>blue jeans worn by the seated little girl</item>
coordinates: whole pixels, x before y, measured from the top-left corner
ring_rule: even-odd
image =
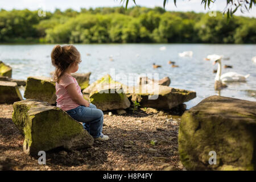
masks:
[[[90,103],[89,107],[80,105],[66,112],[76,121],[82,122],[84,129],[94,138],[100,137],[104,117],[102,110],[97,109],[95,105]]]

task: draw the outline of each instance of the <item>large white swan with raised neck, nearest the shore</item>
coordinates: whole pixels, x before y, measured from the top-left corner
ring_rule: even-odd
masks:
[[[246,81],[246,78],[250,75],[243,76],[241,74],[238,74],[236,72],[228,72],[221,75],[221,59],[222,56],[220,56],[219,59],[215,60],[213,64],[218,63],[218,69],[215,77],[215,81],[221,81],[221,82],[243,82]]]

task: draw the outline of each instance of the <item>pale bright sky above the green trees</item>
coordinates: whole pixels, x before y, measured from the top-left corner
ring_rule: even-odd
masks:
[[[115,7],[122,6],[120,3],[121,0],[9,0],[1,1],[0,9],[12,10],[12,9],[29,9],[29,10],[38,10],[42,8],[46,11],[54,11],[56,8],[60,10],[74,9],[80,11],[81,8],[89,9],[90,7]],[[146,7],[163,7],[163,0],[136,0],[137,5],[146,6]],[[203,12],[207,13],[209,9],[205,10],[204,6],[201,5],[201,0],[177,0],[177,7],[174,5],[173,0],[169,0],[166,5],[166,10],[168,11],[195,11],[197,13]],[[129,1],[129,7],[134,6],[133,1]],[[212,10],[216,9],[218,11],[223,11],[226,6],[225,0],[216,0]],[[242,14],[238,10],[235,15],[243,15],[256,18],[256,7],[250,10],[249,13]]]

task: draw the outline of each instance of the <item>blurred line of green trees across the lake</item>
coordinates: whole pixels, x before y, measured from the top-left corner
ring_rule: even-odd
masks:
[[[256,43],[256,18],[99,7],[46,12],[0,11],[1,43]]]

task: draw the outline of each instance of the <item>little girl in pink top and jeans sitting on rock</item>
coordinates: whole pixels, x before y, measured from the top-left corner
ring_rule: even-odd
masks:
[[[71,76],[79,69],[81,55],[75,46],[55,46],[52,49],[52,65],[56,67],[53,80],[56,82],[57,107],[66,111],[73,119],[82,122],[84,129],[96,140],[108,140],[102,134],[102,110],[88,101],[81,93],[81,88],[76,78]]]

